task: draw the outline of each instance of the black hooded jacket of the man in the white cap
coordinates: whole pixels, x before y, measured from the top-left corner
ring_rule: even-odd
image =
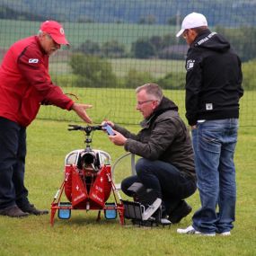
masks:
[[[239,118],[243,96],[241,60],[228,41],[209,30],[190,45],[186,60],[186,118]]]

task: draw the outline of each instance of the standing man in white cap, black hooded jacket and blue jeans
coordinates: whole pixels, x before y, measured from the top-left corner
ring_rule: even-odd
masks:
[[[243,96],[241,61],[225,38],[208,30],[200,13],[184,18],[176,36],[181,35],[190,46],[186,117],[192,129],[201,208],[192,225],[177,232],[229,235],[236,200],[234,148]]]

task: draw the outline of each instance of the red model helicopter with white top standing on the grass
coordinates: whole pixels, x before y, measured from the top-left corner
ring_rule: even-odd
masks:
[[[54,225],[54,216],[68,219],[71,210],[98,210],[97,220],[104,211],[106,218],[112,219],[119,215],[119,222],[124,224],[124,205],[119,191],[112,181],[110,155],[102,150],[92,149],[90,144],[91,132],[94,130],[106,130],[108,134],[111,128],[107,126],[76,126],[69,125],[68,130],[82,130],[85,132],[85,149],[74,150],[66,154],[65,177],[57,194],[51,203],[50,223]],[[114,202],[107,202],[112,192]],[[62,202],[65,193],[68,202]]]

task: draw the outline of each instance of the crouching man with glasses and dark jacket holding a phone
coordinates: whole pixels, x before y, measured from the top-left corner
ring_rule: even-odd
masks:
[[[163,221],[179,223],[190,214],[192,208],[184,199],[197,189],[194,155],[190,134],[179,116],[178,107],[163,96],[157,84],[137,87],[137,110],[144,117],[142,129],[135,135],[107,121],[116,135],[110,140],[117,146],[141,156],[136,163],[137,175],[121,182],[121,189],[128,196],[128,190],[135,182],[142,183],[155,196],[146,218],[161,205]]]

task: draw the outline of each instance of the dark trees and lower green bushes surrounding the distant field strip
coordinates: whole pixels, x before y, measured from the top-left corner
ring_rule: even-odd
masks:
[[[252,66],[256,60],[256,44],[252,40],[256,38],[256,29],[239,28],[225,29],[217,27],[216,31],[223,34],[232,44],[243,61],[243,86],[252,90],[255,88],[255,75],[252,75]],[[176,47],[176,48],[175,48]],[[177,47],[183,47],[180,49]],[[171,49],[167,51],[167,49]],[[77,49],[70,60],[70,66],[76,75],[75,86],[88,87],[124,87],[135,88],[137,84],[154,82],[164,89],[183,89],[185,73],[170,72],[162,78],[155,78],[147,72],[138,72],[136,69],[128,70],[125,77],[117,77],[111,67],[108,58],[135,57],[135,58],[166,58],[185,59],[187,46],[177,43],[173,35],[152,36],[139,38],[132,43],[130,52],[116,40],[104,42],[100,45],[91,40],[85,41]]]

